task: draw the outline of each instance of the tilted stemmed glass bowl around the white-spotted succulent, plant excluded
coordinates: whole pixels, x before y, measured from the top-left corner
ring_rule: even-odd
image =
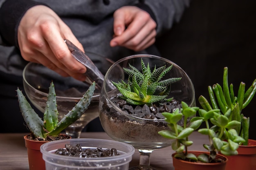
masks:
[[[116,89],[109,88],[110,80],[113,82],[127,82],[127,77],[117,74],[117,69],[130,68],[129,64],[141,71],[141,57],[147,66],[149,63],[150,70],[166,65],[173,68],[162,79],[171,77],[182,77],[178,82],[171,85],[171,93],[167,98],[173,97],[174,100],[184,101],[189,106],[195,106],[195,91],[193,83],[189,76],[177,64],[167,60],[163,57],[154,55],[132,55],[125,57],[115,62],[108,69],[103,88],[101,90],[99,102],[99,118],[101,125],[105,132],[114,140],[122,141],[131,144],[140,152],[140,165],[135,169],[150,169],[150,153],[159,148],[164,148],[171,145],[172,139],[167,139],[158,134],[160,130],[168,130],[167,122],[164,118],[145,119],[128,114],[127,111],[122,110],[117,104],[117,95],[120,92]],[[141,106],[142,107],[142,106]],[[190,118],[191,119],[191,118]],[[189,120],[188,120],[189,122]],[[183,126],[182,124],[180,124]]]

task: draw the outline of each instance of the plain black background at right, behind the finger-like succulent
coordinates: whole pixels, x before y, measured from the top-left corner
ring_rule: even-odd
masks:
[[[209,99],[207,86],[222,85],[228,67],[229,84],[237,96],[240,82],[246,90],[256,79],[256,1],[192,0],[182,19],[157,40],[162,57],[178,64],[191,78],[198,97]],[[256,139],[256,95],[243,109],[250,117],[249,138]]]

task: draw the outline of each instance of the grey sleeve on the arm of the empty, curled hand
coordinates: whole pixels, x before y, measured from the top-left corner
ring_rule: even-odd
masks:
[[[151,10],[151,17],[157,23],[157,35],[160,35],[179,22],[191,0],[145,0],[144,5]],[[143,8],[142,8],[143,9]],[[144,9],[145,10],[145,9]],[[145,10],[147,11],[147,10]]]

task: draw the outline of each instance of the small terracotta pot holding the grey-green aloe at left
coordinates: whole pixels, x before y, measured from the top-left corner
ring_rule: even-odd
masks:
[[[63,136],[68,136],[61,134]],[[29,159],[29,170],[45,170],[45,161],[43,160],[43,155],[40,152],[40,146],[45,144],[48,141],[34,141],[27,139],[27,136],[24,136],[25,146],[27,147],[27,156]],[[68,139],[71,137],[68,136]]]

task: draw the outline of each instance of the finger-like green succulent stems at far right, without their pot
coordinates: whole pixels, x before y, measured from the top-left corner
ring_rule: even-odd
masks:
[[[256,79],[254,79],[252,85],[245,90],[245,83],[240,82],[238,93],[235,95],[233,84],[228,84],[228,68],[224,68],[223,72],[223,86],[220,84],[214,84],[212,87],[208,86],[208,92],[211,104],[204,96],[199,97],[199,103],[205,110],[220,109],[219,114],[225,114],[230,110],[230,120],[239,121],[240,124],[234,128],[236,133],[243,137],[245,141],[240,145],[247,145],[249,139],[249,122],[250,118],[246,117],[242,110],[248,106],[252,101],[256,93]],[[217,99],[217,100],[216,100]],[[218,122],[213,122],[217,124]]]

